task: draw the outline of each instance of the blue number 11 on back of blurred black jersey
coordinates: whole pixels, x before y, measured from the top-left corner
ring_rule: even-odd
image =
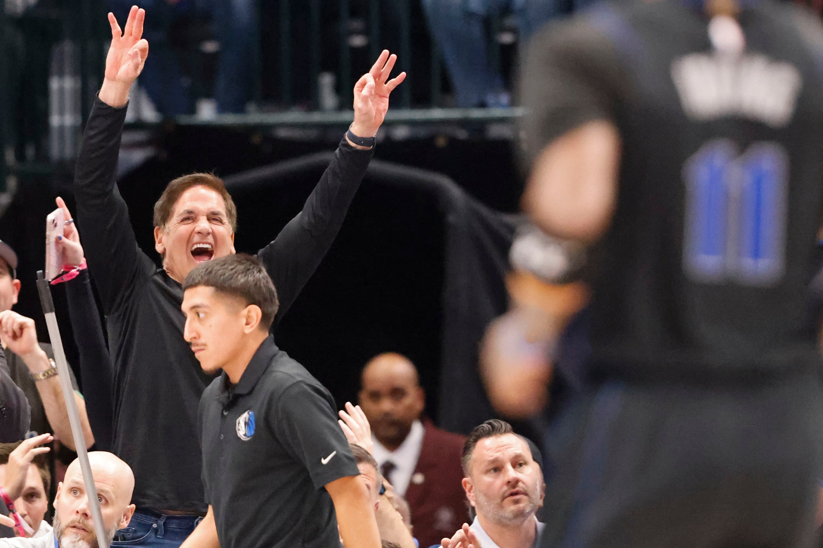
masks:
[[[686,163],[683,263],[702,283],[770,286],[783,277],[788,156],[776,143],[738,154],[712,140]]]

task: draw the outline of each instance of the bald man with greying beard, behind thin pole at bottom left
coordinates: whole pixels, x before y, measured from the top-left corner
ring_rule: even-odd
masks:
[[[134,476],[128,464],[104,451],[89,454],[91,474],[95,477],[100,513],[110,544],[114,534],[126,527],[134,512],[132,499]],[[7,471],[8,473],[8,471]],[[13,520],[0,516],[0,524],[12,527]],[[66,470],[66,477],[58,484],[54,497],[53,530],[34,538],[0,539],[0,548],[97,548],[97,536],[91,518],[86,484],[75,459]]]

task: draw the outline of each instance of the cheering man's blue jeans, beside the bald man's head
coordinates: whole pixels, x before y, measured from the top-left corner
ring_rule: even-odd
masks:
[[[151,509],[137,509],[128,527],[114,536],[111,546],[179,548],[201,521],[198,516],[170,516]]]

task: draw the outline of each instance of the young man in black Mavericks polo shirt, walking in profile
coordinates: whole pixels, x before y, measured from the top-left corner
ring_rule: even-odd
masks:
[[[203,371],[222,370],[198,412],[208,513],[183,546],[378,548],[332,395],[269,334],[278,302],[263,263],[211,260],[183,288],[184,338]]]

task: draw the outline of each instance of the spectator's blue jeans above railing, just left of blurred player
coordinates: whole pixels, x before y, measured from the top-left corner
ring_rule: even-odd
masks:
[[[458,107],[498,106],[503,77],[489,66],[485,19],[505,9],[514,13],[521,44],[551,18],[594,0],[421,0],[429,28],[443,51]]]

